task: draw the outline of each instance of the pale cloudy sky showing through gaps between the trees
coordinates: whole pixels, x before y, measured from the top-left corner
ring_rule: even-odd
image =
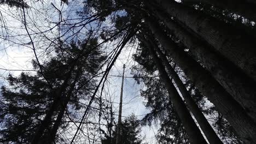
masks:
[[[32,70],[31,60],[35,58],[33,46],[37,47],[36,53],[39,61],[46,61],[47,57],[44,57],[45,49],[50,49],[49,47],[54,45],[53,40],[67,31],[65,27],[56,27],[56,23],[60,20],[66,20],[65,24],[80,21],[75,20],[78,18],[75,12],[83,8],[83,4],[77,3],[77,1],[71,1],[68,5],[60,1],[49,0],[42,3],[29,1],[28,5],[32,5],[32,7],[25,11],[27,31],[21,9],[0,5],[0,22],[4,26],[0,30],[0,86],[7,85],[4,78],[9,74],[18,76],[22,71],[33,74],[33,71],[30,71]],[[62,11],[61,17],[54,6]],[[59,28],[61,33],[58,31]],[[72,32],[75,31],[77,29],[68,31],[63,39],[69,40]],[[30,33],[31,38],[27,36],[28,33]],[[84,37],[83,34],[84,32],[81,31],[80,35],[75,38],[81,40]],[[114,103],[115,112],[118,113],[121,75],[123,64],[125,64],[122,115],[127,117],[134,113],[138,119],[141,119],[149,110],[144,106],[145,100],[140,96],[140,91],[144,88],[143,84],[138,85],[131,75],[132,65],[135,64],[132,61],[132,54],[135,52],[135,46],[127,45],[124,48],[109,73],[106,85],[109,88],[109,95]],[[142,128],[141,135],[145,136],[145,141],[148,143],[155,143],[154,133],[156,133],[157,128],[155,125],[152,125],[152,127]]]

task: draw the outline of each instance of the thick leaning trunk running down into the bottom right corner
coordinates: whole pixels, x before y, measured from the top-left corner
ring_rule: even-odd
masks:
[[[178,47],[156,22],[149,21],[147,18],[145,22],[174,61],[183,69],[184,73],[200,89],[203,95],[224,115],[241,139],[247,144],[254,143],[256,141],[256,123],[247,115],[242,106],[225,91],[207,70],[189,57],[181,47]]]

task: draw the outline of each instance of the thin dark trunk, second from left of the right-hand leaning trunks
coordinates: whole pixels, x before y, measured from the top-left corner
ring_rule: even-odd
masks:
[[[150,39],[150,42],[153,42],[153,41],[151,41],[151,39]],[[201,112],[201,110],[199,109],[199,107],[197,106],[197,104],[195,103],[195,101],[193,100],[193,98],[191,97],[189,92],[187,91],[187,88],[184,86],[182,80],[179,78],[176,71],[174,71],[171,64],[168,62],[164,53],[162,53],[159,50],[159,47],[157,45],[155,45],[155,43],[151,43],[151,45],[154,45],[155,50],[158,52],[159,57],[162,59],[162,62],[165,65],[168,73],[171,75],[172,79],[176,83],[179,91],[182,94],[182,97],[184,98],[185,102],[188,105],[188,108],[191,110],[196,121],[199,123],[200,128],[202,129],[203,133],[206,135],[207,140],[211,144],[218,144],[218,143],[223,144],[223,142],[219,139],[218,135],[215,133],[215,131],[213,130],[211,125],[208,123],[207,119],[205,118],[205,116],[203,115],[203,113]]]

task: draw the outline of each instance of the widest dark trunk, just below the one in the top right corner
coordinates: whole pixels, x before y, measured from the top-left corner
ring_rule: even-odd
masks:
[[[227,23],[173,0],[155,0],[168,14],[184,23],[256,81],[256,49],[252,37],[237,32]],[[152,3],[151,7],[155,7]]]

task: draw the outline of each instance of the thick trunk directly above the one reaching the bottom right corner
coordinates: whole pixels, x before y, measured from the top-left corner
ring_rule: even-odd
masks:
[[[213,51],[211,46],[190,34],[168,15],[154,10],[156,17],[164,21],[171,32],[189,49],[189,55],[199,60],[212,76],[228,91],[232,97],[246,109],[256,122],[256,82],[243,74],[227,59]]]

